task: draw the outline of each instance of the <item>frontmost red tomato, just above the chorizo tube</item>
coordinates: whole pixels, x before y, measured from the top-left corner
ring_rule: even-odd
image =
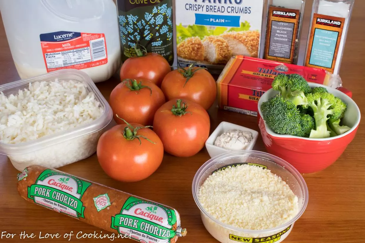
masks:
[[[136,123],[123,124],[100,136],[96,154],[108,176],[134,182],[146,179],[157,170],[164,156],[164,146],[151,129]]]

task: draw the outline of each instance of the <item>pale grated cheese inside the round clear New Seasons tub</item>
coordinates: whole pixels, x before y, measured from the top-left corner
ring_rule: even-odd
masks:
[[[299,211],[298,198],[285,181],[268,169],[247,164],[210,175],[199,188],[198,199],[215,219],[249,230],[281,226]]]

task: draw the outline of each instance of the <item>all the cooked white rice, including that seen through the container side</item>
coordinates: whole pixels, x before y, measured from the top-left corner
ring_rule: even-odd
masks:
[[[103,113],[94,93],[82,82],[55,79],[29,83],[27,89],[15,94],[0,93],[0,142],[21,144],[59,134],[89,124]],[[19,171],[32,164],[58,168],[95,153],[102,132],[99,130],[8,157]]]

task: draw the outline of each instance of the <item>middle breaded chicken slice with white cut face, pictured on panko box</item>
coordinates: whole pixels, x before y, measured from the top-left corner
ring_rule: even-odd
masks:
[[[203,39],[204,60],[212,64],[226,64],[232,52],[226,40],[219,36],[207,36]]]

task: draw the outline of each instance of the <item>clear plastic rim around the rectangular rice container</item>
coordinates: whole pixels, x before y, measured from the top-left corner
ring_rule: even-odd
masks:
[[[37,140],[22,142],[18,144],[5,144],[0,142],[0,153],[5,155],[18,155],[27,154],[34,152],[35,150],[44,149],[49,146],[59,144],[61,142],[84,136],[87,134],[95,133],[107,126],[112,119],[113,112],[110,105],[105,100],[103,95],[97,89],[91,78],[80,70],[76,69],[63,69],[54,72],[49,72],[47,74],[39,75],[30,79],[22,79],[12,83],[7,83],[0,86],[0,91],[4,95],[8,96],[10,94],[17,94],[20,89],[27,89],[29,83],[34,82],[51,82],[55,79],[58,80],[74,80],[85,84],[86,89],[89,92],[93,92],[95,99],[100,102],[101,107],[103,107],[103,114],[88,124],[82,124],[76,128],[65,130],[51,135],[46,135],[44,137],[38,138]]]

